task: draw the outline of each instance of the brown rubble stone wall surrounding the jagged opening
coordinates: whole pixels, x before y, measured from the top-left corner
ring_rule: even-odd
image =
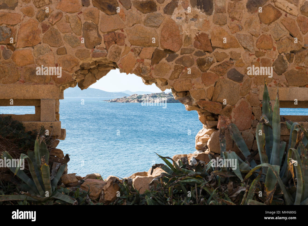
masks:
[[[63,90],[119,68],[198,111],[197,150],[220,153],[218,129],[230,122],[255,150],[264,79],[281,107],[308,107],[307,32],[305,0],[0,0],[0,105],[35,106],[13,118],[64,139]],[[62,76],[37,75],[41,65]],[[248,67],[273,67],[272,77]],[[308,127],[307,116],[286,118]]]

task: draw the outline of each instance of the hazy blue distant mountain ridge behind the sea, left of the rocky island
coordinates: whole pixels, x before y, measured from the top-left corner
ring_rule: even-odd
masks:
[[[123,97],[131,94],[124,92],[106,92],[100,89],[87,88],[81,90],[79,87],[64,90],[64,97]]]

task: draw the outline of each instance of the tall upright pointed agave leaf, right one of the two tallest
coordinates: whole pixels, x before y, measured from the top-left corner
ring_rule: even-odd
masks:
[[[277,91],[276,101],[273,111],[273,148],[270,157],[270,164],[280,166],[279,146],[280,146],[280,111],[279,111],[279,94]]]

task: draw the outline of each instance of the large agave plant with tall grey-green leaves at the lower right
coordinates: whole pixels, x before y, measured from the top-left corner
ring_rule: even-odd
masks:
[[[253,155],[251,155],[239,130],[233,123],[228,125],[231,138],[245,156],[246,160],[241,160],[235,152],[226,152],[224,138],[225,128],[221,128],[220,145],[222,157],[225,159],[237,158],[241,164],[233,172],[228,172],[228,169],[225,168],[221,169],[222,172],[215,172],[217,175],[221,176],[236,175],[241,181],[250,178],[252,175],[255,176],[255,179],[250,185],[248,194],[246,195],[245,193],[245,203],[253,205],[262,204],[253,200],[257,184],[259,181],[262,181],[264,182],[266,198],[262,197],[260,199],[265,204],[271,204],[274,195],[279,197],[283,193],[287,205],[308,205],[308,132],[298,123],[286,121],[286,125],[288,129],[290,129],[290,139],[287,152],[285,153],[286,142],[280,140],[279,95],[277,92],[274,108],[272,110],[268,89],[265,83],[262,101],[262,116],[256,127],[256,140],[261,164],[257,165],[253,160]],[[247,173],[245,178],[242,177],[241,173]],[[295,175],[296,182],[294,178]],[[291,179],[293,179],[293,183],[290,181]],[[277,184],[280,190],[277,189]],[[278,198],[273,203],[279,204],[281,200]]]

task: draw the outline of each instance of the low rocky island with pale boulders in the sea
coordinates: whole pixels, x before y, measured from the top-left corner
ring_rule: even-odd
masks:
[[[124,96],[121,98],[115,98],[110,100],[104,100],[107,102],[119,102],[119,103],[141,103],[141,102],[150,102],[150,103],[159,103],[161,101],[165,101],[165,103],[180,103],[178,100],[174,99],[172,92],[169,93],[151,93],[151,94],[144,94],[138,95],[133,94],[130,96]]]

